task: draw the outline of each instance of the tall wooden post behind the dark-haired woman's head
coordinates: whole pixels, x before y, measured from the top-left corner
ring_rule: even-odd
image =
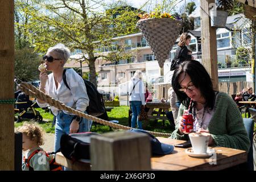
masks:
[[[210,3],[214,0],[200,0],[202,64],[212,78],[214,90],[218,90],[216,28],[210,27]]]

